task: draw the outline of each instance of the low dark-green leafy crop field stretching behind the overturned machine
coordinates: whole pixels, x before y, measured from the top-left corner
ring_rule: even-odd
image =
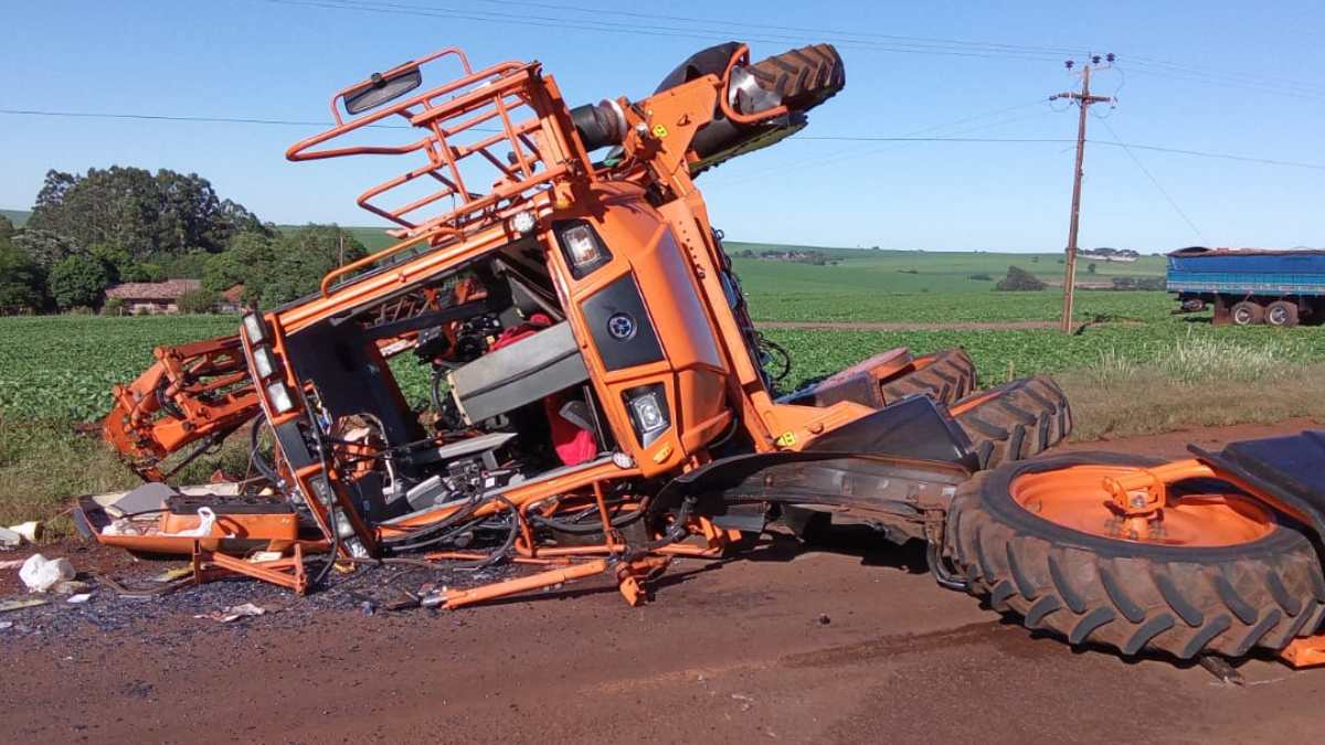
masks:
[[[1118,293],[1132,294],[1132,293]],[[953,298],[949,297],[951,302]],[[978,315],[954,304],[954,312]],[[804,317],[802,317],[804,318]],[[110,387],[132,380],[158,345],[182,343],[237,330],[236,317],[102,318],[65,315],[0,319],[0,415],[7,419],[90,420],[110,408]],[[1171,318],[1150,323],[1101,323],[1076,335],[1053,329],[1012,330],[798,330],[770,329],[768,338],[792,355],[784,387],[823,375],[876,351],[908,346],[917,353],[962,346],[986,384],[1010,375],[1060,372],[1101,361],[1151,362],[1185,339],[1220,338],[1231,354],[1272,350],[1285,362],[1325,361],[1325,334],[1316,329],[1214,329]],[[392,361],[411,402],[428,398],[428,372],[412,355]]]

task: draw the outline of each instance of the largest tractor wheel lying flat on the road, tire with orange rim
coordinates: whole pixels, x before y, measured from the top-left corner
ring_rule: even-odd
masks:
[[[1075,453],[979,473],[953,501],[945,553],[994,610],[1072,644],[1238,658],[1316,631],[1312,544],[1228,485],[1170,492],[1159,540],[1117,536],[1104,477],[1159,463]]]

